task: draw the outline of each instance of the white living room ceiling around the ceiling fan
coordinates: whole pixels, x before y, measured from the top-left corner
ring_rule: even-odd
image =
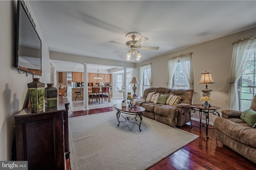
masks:
[[[256,1],[29,1],[51,51],[125,61],[128,32],[148,41],[142,60],[256,27]],[[56,62],[56,61],[52,61]],[[132,61],[136,62],[135,57]]]

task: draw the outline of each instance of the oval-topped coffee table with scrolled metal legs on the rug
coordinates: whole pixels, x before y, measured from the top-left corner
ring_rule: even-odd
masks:
[[[122,104],[114,104],[113,107],[117,110],[116,117],[118,120],[118,126],[120,125],[120,122],[126,122],[129,121],[130,123],[136,123],[139,126],[142,122],[142,113],[145,111],[145,109],[141,106],[134,105],[131,109],[127,109],[126,107],[122,107]],[[126,114],[127,116],[124,117],[121,113]],[[120,121],[120,115],[124,118],[125,121]],[[135,117],[130,117],[129,115],[135,115]],[[136,121],[140,118],[140,123],[137,123]],[[135,120],[135,121],[132,121]],[[141,131],[141,129],[140,129]]]

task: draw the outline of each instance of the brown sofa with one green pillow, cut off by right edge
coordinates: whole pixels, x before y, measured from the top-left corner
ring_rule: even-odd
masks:
[[[256,111],[256,95],[250,108]],[[215,135],[221,143],[256,163],[256,128],[240,119],[242,111],[222,110],[214,121]]]

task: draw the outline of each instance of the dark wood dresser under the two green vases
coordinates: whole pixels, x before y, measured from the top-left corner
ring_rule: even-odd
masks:
[[[69,158],[67,98],[58,96],[57,107],[31,113],[30,107],[14,116],[17,160],[28,170],[64,170]]]

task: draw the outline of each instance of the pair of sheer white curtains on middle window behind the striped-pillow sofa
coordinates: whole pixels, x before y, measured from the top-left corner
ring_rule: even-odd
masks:
[[[174,72],[177,66],[178,61],[180,61],[180,64],[182,66],[182,69],[184,70],[184,74],[186,76],[186,79],[189,82],[188,88],[194,89],[194,80],[193,80],[193,70],[192,70],[192,52],[185,53],[181,55],[177,55],[169,59],[168,63],[168,87],[172,88],[172,78],[174,76]]]

